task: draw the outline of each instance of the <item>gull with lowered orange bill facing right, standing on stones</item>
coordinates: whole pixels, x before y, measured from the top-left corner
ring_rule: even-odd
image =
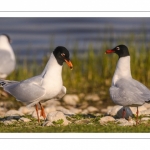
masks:
[[[49,61],[40,75],[20,82],[0,80],[0,85],[17,100],[28,106],[35,106],[38,121],[40,122],[38,104],[40,104],[41,116],[45,119],[46,114],[41,102],[55,97],[61,98],[66,94],[66,88],[63,86],[61,76],[63,62],[66,62],[70,69],[73,68],[69,59],[69,51],[63,46],[58,46],[51,53]]]

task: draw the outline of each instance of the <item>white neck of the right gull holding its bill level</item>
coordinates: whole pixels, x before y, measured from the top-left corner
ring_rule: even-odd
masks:
[[[116,70],[112,79],[112,85],[115,85],[120,78],[132,78],[130,69],[130,56],[119,58]]]

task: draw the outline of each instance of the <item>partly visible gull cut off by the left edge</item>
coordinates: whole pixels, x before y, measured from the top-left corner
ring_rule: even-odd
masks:
[[[0,35],[0,78],[5,79],[16,66],[16,59],[7,34]]]

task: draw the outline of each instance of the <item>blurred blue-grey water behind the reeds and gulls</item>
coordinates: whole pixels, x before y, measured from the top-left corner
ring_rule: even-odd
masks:
[[[134,44],[148,44],[150,18],[0,18],[0,33],[11,37],[20,60],[24,56],[41,59],[58,45],[72,51],[77,44],[79,51],[86,51],[91,43],[100,50],[101,43],[116,46],[124,37],[125,44],[132,34]]]

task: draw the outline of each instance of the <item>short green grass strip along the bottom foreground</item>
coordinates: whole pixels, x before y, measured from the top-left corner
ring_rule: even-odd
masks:
[[[0,123],[1,133],[149,133],[150,122],[147,124],[139,124],[135,126],[121,127],[115,123],[107,123],[107,125],[100,125],[100,117],[85,117],[83,115],[74,116],[75,120],[88,118],[88,124],[75,124],[72,122],[67,126],[61,123],[55,123],[55,126],[45,127],[37,122],[36,119],[28,116],[32,121],[28,123],[17,122],[12,125],[4,125]],[[74,121],[75,121],[74,120]]]

